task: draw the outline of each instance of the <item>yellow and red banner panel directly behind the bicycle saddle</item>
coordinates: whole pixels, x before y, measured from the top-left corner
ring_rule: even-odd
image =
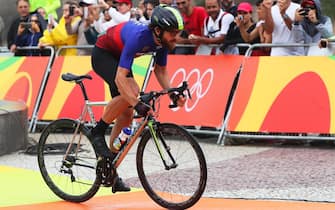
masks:
[[[151,56],[136,58],[132,66],[134,77],[141,87],[147,72]],[[106,68],[109,68],[106,66]],[[84,80],[87,95],[91,101],[108,101],[111,99],[107,84],[94,73],[89,56],[59,56],[55,59],[43,98],[38,111],[38,120],[59,118],[78,118],[84,106],[81,89],[74,82],[65,82],[61,75],[70,72],[76,75],[89,74],[92,80]],[[93,107],[96,119],[101,117],[104,107]]]

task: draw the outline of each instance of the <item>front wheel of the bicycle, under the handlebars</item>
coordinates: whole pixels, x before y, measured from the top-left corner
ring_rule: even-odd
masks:
[[[152,135],[147,130],[139,142],[136,154],[141,184],[160,206],[187,209],[201,198],[206,187],[207,166],[202,149],[194,137],[178,125],[158,124],[155,132],[160,141],[163,139],[167,144],[178,166],[165,170]],[[167,153],[164,156],[168,157]]]

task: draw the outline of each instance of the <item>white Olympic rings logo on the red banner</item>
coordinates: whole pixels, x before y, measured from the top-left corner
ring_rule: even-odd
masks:
[[[188,82],[192,100],[187,100],[184,107],[186,112],[191,112],[197,106],[200,99],[208,93],[213,79],[214,71],[211,68],[207,69],[203,74],[201,74],[199,69],[193,69],[187,74],[184,68],[180,68],[172,75],[170,84],[180,86],[183,81]],[[175,84],[174,82],[179,82],[179,84]],[[175,108],[174,110],[177,111],[178,109]]]

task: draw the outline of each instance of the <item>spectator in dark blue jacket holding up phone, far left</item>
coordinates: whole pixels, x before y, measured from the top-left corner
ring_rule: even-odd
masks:
[[[27,31],[27,32],[25,32]],[[25,32],[25,33],[24,33]],[[31,15],[28,22],[19,25],[15,45],[17,47],[38,46],[39,39],[42,37],[42,26],[36,14]],[[41,55],[40,50],[27,50],[26,56]]]

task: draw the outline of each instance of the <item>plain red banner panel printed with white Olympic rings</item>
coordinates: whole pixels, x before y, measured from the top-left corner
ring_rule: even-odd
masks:
[[[162,98],[159,119],[180,125],[221,127],[229,93],[242,63],[241,56],[171,55],[167,69],[171,86],[188,81],[192,99],[183,108],[169,109],[170,100]],[[146,91],[161,90],[154,74]]]

